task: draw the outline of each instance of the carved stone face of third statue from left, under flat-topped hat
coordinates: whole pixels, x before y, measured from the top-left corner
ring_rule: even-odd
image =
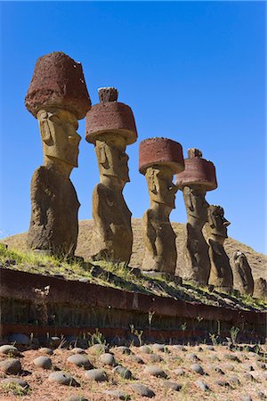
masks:
[[[173,171],[167,167],[148,168],[146,179],[150,191],[150,201],[163,203],[171,209],[175,208],[177,188],[173,183]]]

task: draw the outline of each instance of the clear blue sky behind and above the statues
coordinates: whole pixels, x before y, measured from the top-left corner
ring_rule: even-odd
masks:
[[[29,184],[42,164],[37,122],[24,97],[36,59],[63,51],[83,64],[93,103],[97,88],[117,86],[139,133],[127,148],[134,217],[149,207],[138,172],[138,144],[150,136],[198,147],[217,170],[207,193],[231,221],[229,235],[264,251],[265,4],[259,2],[28,2],[1,4],[1,236],[28,230]],[[71,179],[92,218],[99,180],[93,145],[78,130],[79,168]],[[185,222],[182,193],[171,219]]]

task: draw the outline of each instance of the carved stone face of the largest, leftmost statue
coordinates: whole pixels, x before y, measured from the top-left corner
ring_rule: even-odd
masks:
[[[67,110],[40,110],[37,114],[44,156],[63,160],[77,167],[78,145],[77,118]]]

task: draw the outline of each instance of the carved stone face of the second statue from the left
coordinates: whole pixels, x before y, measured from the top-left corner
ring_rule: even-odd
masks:
[[[128,183],[129,157],[125,153],[125,138],[121,135],[101,135],[95,142],[95,152],[103,176],[115,176],[121,182]]]

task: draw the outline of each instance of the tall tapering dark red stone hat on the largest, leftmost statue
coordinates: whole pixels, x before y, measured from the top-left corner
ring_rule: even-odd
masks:
[[[82,64],[62,52],[40,57],[28,87],[25,106],[35,117],[42,108],[55,107],[69,110],[77,119],[84,119],[91,100]]]

